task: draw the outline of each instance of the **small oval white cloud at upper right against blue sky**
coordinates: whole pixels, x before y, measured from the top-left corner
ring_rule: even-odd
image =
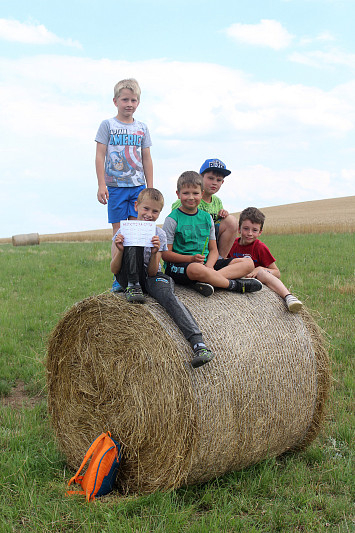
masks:
[[[273,50],[287,48],[293,40],[291,35],[277,20],[262,19],[259,24],[235,23],[226,33],[237,42],[266,46]]]

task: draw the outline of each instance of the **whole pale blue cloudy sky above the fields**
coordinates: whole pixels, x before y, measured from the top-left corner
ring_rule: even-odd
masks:
[[[355,194],[354,0],[0,0],[0,237],[111,227],[95,136],[138,80],[154,186],[219,158],[230,212]]]

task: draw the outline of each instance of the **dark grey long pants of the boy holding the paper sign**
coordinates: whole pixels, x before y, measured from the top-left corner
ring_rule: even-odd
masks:
[[[171,316],[184,337],[193,346],[202,342],[202,333],[190,311],[174,293],[174,281],[166,274],[157,273],[148,276],[143,261],[144,248],[126,246],[123,252],[122,266],[116,278],[125,288],[130,283],[139,283],[144,292],[152,296]]]

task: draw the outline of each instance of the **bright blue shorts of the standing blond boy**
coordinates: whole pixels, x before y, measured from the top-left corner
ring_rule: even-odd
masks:
[[[145,185],[139,185],[139,187],[107,187],[107,211],[110,224],[127,220],[128,217],[137,218],[134,202],[143,189],[145,189]]]

